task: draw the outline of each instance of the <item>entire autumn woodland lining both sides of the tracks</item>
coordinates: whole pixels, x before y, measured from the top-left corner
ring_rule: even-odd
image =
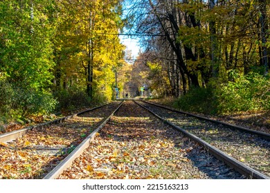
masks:
[[[245,94],[250,106],[269,108],[269,5],[3,0],[0,122],[110,101],[117,90],[118,96],[138,96],[142,86],[148,94],[175,97],[192,88],[220,88],[211,92],[223,109],[229,101],[224,93]],[[141,34],[143,52],[133,65],[119,38],[124,28]],[[242,92],[244,85],[250,92]]]

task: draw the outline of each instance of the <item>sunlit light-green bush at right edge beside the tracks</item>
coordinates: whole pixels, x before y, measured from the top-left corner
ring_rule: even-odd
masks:
[[[219,112],[270,110],[270,79],[251,73],[217,89]]]

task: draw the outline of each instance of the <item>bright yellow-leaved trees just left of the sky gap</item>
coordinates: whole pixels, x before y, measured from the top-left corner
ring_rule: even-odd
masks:
[[[60,40],[56,46],[60,50],[57,57],[58,67],[64,72],[64,76],[70,74],[69,81],[71,85],[77,82],[78,85],[85,85],[86,92],[93,97],[95,92],[106,92],[108,99],[112,96],[111,88],[114,82],[114,72],[123,59],[123,45],[117,37],[118,30],[122,28],[120,19],[121,6],[119,1],[60,1],[59,7],[66,13],[60,21]],[[69,12],[72,10],[72,12]],[[66,19],[69,18],[69,19]],[[61,35],[69,34],[69,36]],[[64,39],[69,38],[69,41]],[[66,43],[69,46],[66,46]],[[71,54],[66,58],[65,50]],[[64,52],[63,52],[64,51]],[[70,51],[70,52],[69,52]],[[58,55],[58,54],[57,54]],[[62,60],[62,59],[66,60]],[[70,63],[68,66],[66,62]],[[62,64],[61,64],[62,63]],[[55,72],[55,77],[61,77]],[[109,82],[106,82],[109,81]],[[60,81],[60,80],[58,80]],[[57,85],[60,85],[58,83]]]

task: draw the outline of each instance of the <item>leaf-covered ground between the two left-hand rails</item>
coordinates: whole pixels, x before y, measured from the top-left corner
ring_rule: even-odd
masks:
[[[1,144],[0,179],[42,179],[119,103],[110,103],[42,130],[33,129],[14,141]]]

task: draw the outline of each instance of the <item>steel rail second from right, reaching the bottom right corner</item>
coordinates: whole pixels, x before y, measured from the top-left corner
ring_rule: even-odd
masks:
[[[138,103],[136,101],[134,101],[134,102],[136,104],[140,105],[145,110],[151,112],[154,116],[159,118],[164,123],[172,126],[172,128],[174,128],[174,129],[179,130],[180,132],[182,132],[185,136],[192,139],[192,141],[195,141],[195,142],[199,143],[200,145],[204,146],[204,148],[206,148],[206,150],[208,152],[210,152],[210,154],[213,154],[213,156],[215,156],[217,159],[219,159],[221,161],[224,161],[224,163],[226,163],[227,165],[233,167],[235,170],[240,172],[240,174],[244,174],[249,179],[270,179],[269,176],[266,176],[266,175],[258,172],[257,170],[254,170],[253,168],[251,168],[251,167],[249,167],[247,165],[244,165],[244,163],[241,163],[240,161],[237,161],[236,159],[234,159],[231,156],[228,156],[228,154],[225,154],[221,150],[215,148],[213,145],[210,145],[209,143],[207,143],[206,141],[200,139],[199,137],[195,136],[194,134],[191,134],[190,132],[188,132],[186,130],[183,130],[179,126],[174,125],[170,121],[167,121],[167,120],[163,119],[161,116],[159,116],[156,113],[152,112],[152,110],[149,110],[148,108],[145,108],[140,103]]]

